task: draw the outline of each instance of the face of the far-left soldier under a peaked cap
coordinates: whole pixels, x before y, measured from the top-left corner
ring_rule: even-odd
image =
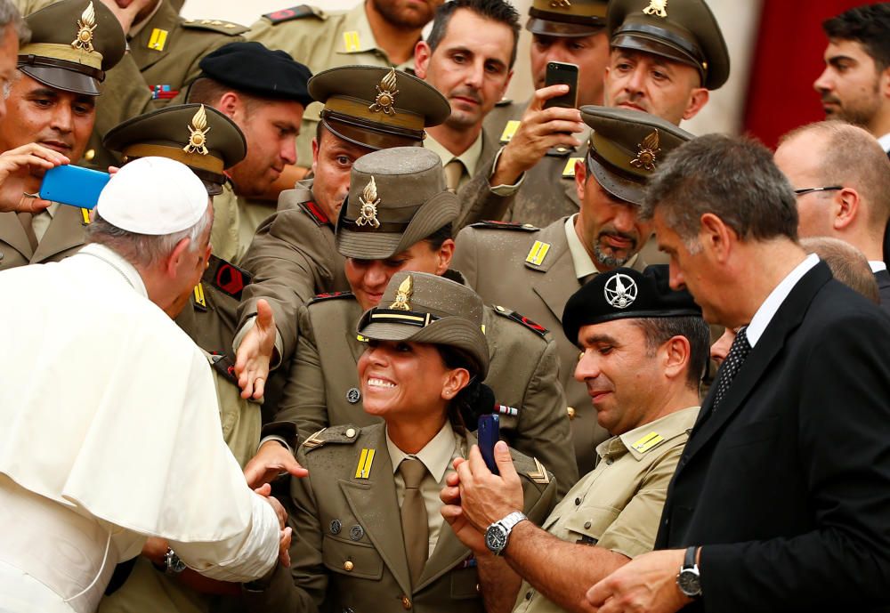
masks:
[[[95,117],[93,96],[65,92],[19,73],[0,120],[0,149],[36,142],[77,162],[84,155]]]

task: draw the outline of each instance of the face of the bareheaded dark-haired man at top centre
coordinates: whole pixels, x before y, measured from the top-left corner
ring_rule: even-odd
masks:
[[[433,85],[451,105],[446,125],[466,129],[481,125],[506,92],[513,75],[510,56],[514,34],[506,24],[458,9],[434,52],[419,43],[417,77]]]

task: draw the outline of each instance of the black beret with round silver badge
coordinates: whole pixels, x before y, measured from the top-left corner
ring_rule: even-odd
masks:
[[[701,308],[686,290],[668,285],[667,264],[643,272],[619,268],[602,272],[571,295],[562,313],[562,331],[578,343],[581,327],[613,319],[701,317]]]

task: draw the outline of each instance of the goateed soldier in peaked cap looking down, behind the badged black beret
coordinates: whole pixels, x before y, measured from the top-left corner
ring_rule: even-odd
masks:
[[[637,219],[643,187],[660,160],[691,138],[675,125],[639,111],[584,107],[591,133],[587,158],[576,166],[578,214],[544,229],[477,223],[457,236],[454,265],[482,300],[522,311],[551,330],[559,346],[560,378],[569,402],[578,472],[594,466],[606,433],[596,424],[584,385],[572,380],[578,350],[562,335],[562,310],[591,275],[627,264],[645,266],[637,252],[651,222]]]

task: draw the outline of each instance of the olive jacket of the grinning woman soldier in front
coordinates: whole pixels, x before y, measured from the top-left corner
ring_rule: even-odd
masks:
[[[322,446],[300,449],[297,460],[309,476],[291,480],[291,571],[279,566],[268,589],[248,593],[251,610],[481,613],[472,553],[447,522],[411,589],[384,424],[354,428],[351,437],[346,431],[346,426],[328,429],[320,435],[327,441]],[[475,443],[472,434],[466,442]],[[363,449],[375,449],[365,479],[356,475]],[[522,454],[513,456],[525,495],[523,511],[540,523],[553,508],[555,483],[530,478],[536,464]],[[332,529],[334,521],[341,529]]]

